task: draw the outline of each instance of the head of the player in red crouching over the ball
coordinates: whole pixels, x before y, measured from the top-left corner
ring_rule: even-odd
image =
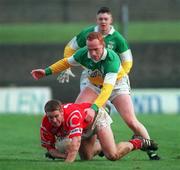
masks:
[[[59,100],[48,101],[44,111],[53,126],[59,127],[64,121],[62,103]]]

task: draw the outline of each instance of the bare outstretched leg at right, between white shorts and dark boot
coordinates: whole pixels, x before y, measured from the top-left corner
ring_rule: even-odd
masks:
[[[120,94],[112,101],[121,117],[128,125],[128,127],[134,132],[134,134],[143,136],[149,139],[149,134],[142,123],[140,123],[134,113],[134,107],[131,96],[129,94]]]

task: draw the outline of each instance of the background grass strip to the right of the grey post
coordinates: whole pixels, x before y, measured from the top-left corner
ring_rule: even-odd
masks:
[[[129,25],[129,41],[180,41],[180,22],[135,22]]]

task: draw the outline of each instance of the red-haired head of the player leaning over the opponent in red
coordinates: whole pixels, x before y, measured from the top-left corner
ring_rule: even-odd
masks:
[[[99,61],[104,52],[104,39],[100,32],[91,32],[87,36],[87,48],[91,59]]]

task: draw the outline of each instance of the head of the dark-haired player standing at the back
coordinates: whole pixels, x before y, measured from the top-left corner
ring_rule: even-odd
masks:
[[[99,31],[107,34],[110,31],[110,25],[113,22],[112,13],[108,7],[101,7],[96,15],[96,22],[99,26]]]

